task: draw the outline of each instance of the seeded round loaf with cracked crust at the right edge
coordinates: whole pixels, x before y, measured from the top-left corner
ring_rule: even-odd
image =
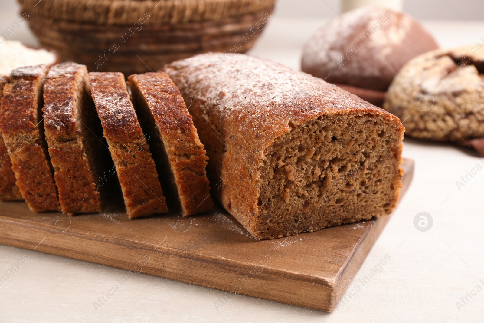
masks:
[[[454,142],[484,138],[483,46],[438,49],[405,64],[383,107],[405,120],[406,135]]]

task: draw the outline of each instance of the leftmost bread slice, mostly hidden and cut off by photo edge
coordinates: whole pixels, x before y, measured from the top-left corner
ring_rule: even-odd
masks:
[[[3,86],[10,81],[9,77],[0,77],[0,100],[3,97]],[[15,174],[8,155],[7,146],[0,131],[0,200],[24,200],[18,186],[15,184]]]

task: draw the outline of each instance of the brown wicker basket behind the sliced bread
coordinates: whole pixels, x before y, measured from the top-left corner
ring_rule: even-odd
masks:
[[[126,76],[209,51],[249,50],[274,0],[19,0],[63,61]]]

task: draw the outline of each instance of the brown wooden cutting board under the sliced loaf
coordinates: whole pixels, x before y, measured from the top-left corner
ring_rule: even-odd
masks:
[[[400,197],[413,161],[403,168]],[[4,245],[227,291],[220,306],[240,293],[323,311],[336,307],[390,219],[259,241],[221,207],[133,220],[115,210],[33,213],[23,202],[1,202],[0,210]]]

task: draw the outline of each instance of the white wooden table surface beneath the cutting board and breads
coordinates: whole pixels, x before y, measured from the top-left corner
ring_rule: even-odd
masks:
[[[250,53],[299,69],[302,44],[323,23],[274,16]],[[484,36],[484,22],[425,25],[446,47]],[[34,42],[26,26],[14,36]],[[333,313],[241,295],[217,310],[221,291],[143,274],[95,307],[125,271],[0,246],[0,276],[28,257],[0,286],[0,322],[483,322],[484,170],[460,189],[455,182],[484,160],[470,150],[411,139],[404,155],[416,161],[413,183]],[[429,231],[413,225],[420,212],[433,218]],[[380,271],[385,257],[391,260]]]

